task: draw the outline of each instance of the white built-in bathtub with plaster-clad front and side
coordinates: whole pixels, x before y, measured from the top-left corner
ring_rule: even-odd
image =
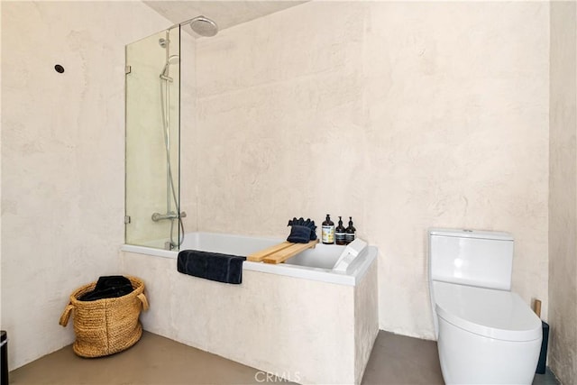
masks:
[[[180,249],[246,256],[282,241],[190,233]],[[377,249],[336,271],[344,248],[321,243],[278,265],[244,261],[241,285],[180,274],[175,251],[124,245],[121,265],[145,282],[145,330],[287,380],[356,384],[379,331]]]

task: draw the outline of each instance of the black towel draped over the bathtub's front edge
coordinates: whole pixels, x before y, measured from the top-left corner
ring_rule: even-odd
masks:
[[[183,250],[179,252],[177,270],[205,280],[239,284],[243,282],[243,261],[246,257]]]

